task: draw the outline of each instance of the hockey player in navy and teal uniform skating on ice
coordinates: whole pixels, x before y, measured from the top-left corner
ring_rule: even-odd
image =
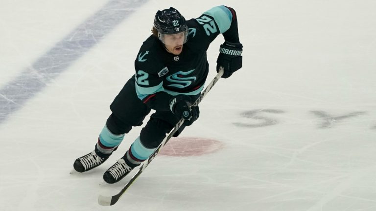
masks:
[[[110,105],[112,114],[94,151],[77,158],[74,169],[85,172],[101,165],[118,148],[124,134],[141,126],[151,109],[155,110],[124,156],[103,174],[104,181],[116,183],[146,160],[181,118],[184,125],[174,137],[196,121],[200,110],[191,105],[204,88],[209,72],[206,51],[219,34],[225,42],[220,46],[216,69],[223,66],[222,78],[228,78],[242,66],[243,46],[233,8],[213,7],[188,21],[172,7],[158,11],[152,35],[137,54],[136,74]]]

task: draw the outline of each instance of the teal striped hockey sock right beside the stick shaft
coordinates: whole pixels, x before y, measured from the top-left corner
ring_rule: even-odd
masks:
[[[139,166],[142,161],[149,158],[156,148],[146,148],[142,145],[140,136],[133,142],[129,150],[125,153],[128,165]]]

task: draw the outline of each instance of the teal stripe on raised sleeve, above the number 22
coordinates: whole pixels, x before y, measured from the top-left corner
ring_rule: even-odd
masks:
[[[233,14],[227,7],[223,5],[213,7],[210,10],[204,12],[204,14],[210,15],[214,18],[214,21],[217,23],[219,31],[221,33],[226,32],[230,28],[231,22],[233,20]]]

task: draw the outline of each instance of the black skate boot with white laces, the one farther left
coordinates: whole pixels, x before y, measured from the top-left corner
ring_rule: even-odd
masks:
[[[80,173],[94,169],[95,167],[104,163],[111,154],[112,153],[101,153],[95,145],[94,151],[82,157],[79,157],[74,161],[73,168]]]

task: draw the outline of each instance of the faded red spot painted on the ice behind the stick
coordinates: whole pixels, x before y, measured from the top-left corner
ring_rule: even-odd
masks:
[[[221,148],[223,148],[222,142],[213,139],[200,137],[171,138],[159,154],[175,157],[199,156],[213,153]]]

